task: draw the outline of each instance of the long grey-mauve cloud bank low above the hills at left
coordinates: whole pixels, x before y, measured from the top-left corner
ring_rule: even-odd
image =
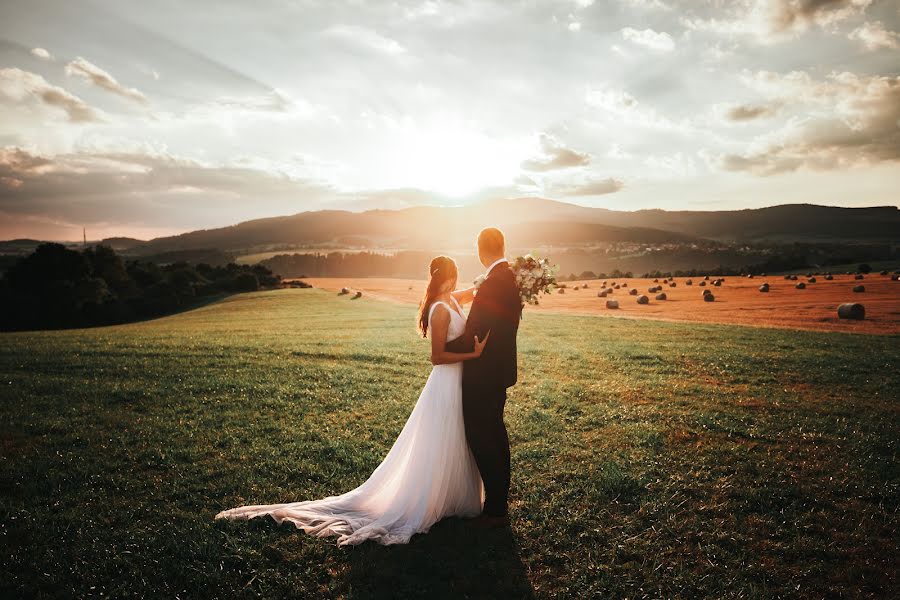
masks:
[[[0,150],[0,213],[22,218],[197,228],[291,214],[335,197],[316,180],[161,152]]]

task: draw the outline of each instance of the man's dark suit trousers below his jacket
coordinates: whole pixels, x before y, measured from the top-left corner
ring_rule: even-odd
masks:
[[[508,513],[509,436],[503,422],[506,388],[463,383],[463,422],[466,441],[484,482],[484,514]]]

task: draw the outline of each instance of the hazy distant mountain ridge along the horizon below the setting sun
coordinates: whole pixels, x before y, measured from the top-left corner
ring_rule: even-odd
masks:
[[[545,198],[506,198],[460,207],[399,210],[320,210],[201,229],[146,242],[113,238],[129,254],[217,249],[238,253],[277,245],[377,249],[470,247],[487,225],[503,228],[515,247],[592,242],[661,244],[712,239],[728,242],[900,242],[896,206],[841,208],[784,204],[732,211],[615,211]],[[0,243],[21,248],[33,240]]]

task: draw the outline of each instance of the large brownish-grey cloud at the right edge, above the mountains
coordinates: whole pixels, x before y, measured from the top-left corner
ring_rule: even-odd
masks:
[[[751,81],[795,98],[800,113],[746,153],[720,157],[721,168],[774,175],[900,160],[900,77],[834,72],[816,81],[795,71],[761,72]]]

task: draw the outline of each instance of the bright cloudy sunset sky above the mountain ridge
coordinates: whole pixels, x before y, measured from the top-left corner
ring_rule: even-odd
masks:
[[[898,205],[900,0],[9,0],[0,239]]]

